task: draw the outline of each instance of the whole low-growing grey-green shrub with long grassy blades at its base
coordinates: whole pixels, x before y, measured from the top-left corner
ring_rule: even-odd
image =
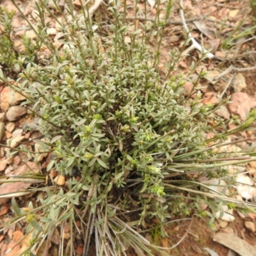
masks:
[[[38,47],[48,50],[47,58],[28,63],[17,58],[22,72],[15,83],[1,71],[1,80],[25,95],[22,106],[40,117],[45,138],[36,143],[40,143],[40,150],[52,151],[47,172],[56,170],[66,180],[65,186],[46,187],[39,207],[30,202],[26,211],[20,211],[12,200],[15,220],[26,216],[26,232],[33,234],[26,252],[35,252],[42,237],[51,239],[52,230],[68,222],[70,253],[74,250],[74,230],[83,230],[84,255],[92,236],[95,255],[125,255],[127,246],[138,253],[155,255],[154,249],[164,254],[138,231],[157,228],[161,236],[166,236],[164,227],[172,216],[194,212],[209,215],[214,228],[214,216],[201,211],[199,201],[211,209],[222,204],[234,206],[227,202],[227,196],[207,197],[211,195],[205,193],[209,188],[198,182],[198,177],[203,173],[209,179],[227,174],[224,166],[230,162],[223,157],[232,157],[232,152],[214,148],[221,147],[228,135],[250,127],[255,112],[243,124],[235,117],[228,120],[238,125],[228,131],[226,122],[214,115],[228,99],[213,106],[201,103],[200,91],[195,99],[185,97],[183,85],[189,77],[170,75],[181,56],[177,50],[171,52],[166,75],[161,74],[159,45],[171,2],[166,3],[165,20],[156,19],[150,31],[143,23],[139,27],[127,24],[125,13],[118,11],[118,2],[110,2],[108,11],[115,23],[109,25],[108,36],[100,36],[93,31],[88,7],[77,15],[67,1],[71,19],[63,17],[63,24],[56,19],[63,33],[63,45],[56,49],[46,33],[47,24],[42,22],[45,13],[56,16],[47,3],[38,1],[40,19],[34,20],[38,24],[33,26],[24,19],[30,29],[35,29],[36,40],[41,42]],[[156,54],[148,47],[151,35],[159,39]],[[201,72],[193,81],[194,87],[203,76]],[[207,140],[209,132],[215,135]],[[28,152],[22,145],[20,148]],[[16,152],[15,148],[10,150],[10,154]],[[31,152],[28,156],[34,157]],[[246,161],[250,160],[235,158],[231,163]],[[76,220],[81,221],[81,227],[74,226]]]

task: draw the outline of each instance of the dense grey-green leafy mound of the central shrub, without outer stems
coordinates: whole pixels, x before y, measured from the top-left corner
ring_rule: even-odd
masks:
[[[119,26],[118,31],[127,30]],[[200,104],[200,94],[195,100],[184,98],[182,74],[161,83],[142,42],[109,38],[112,42],[100,53],[99,36],[88,42],[80,31],[71,34],[66,28],[65,33],[73,40],[65,42],[61,61],[54,56],[51,65],[26,68],[35,81],[26,86],[37,103],[34,111],[42,116],[41,130],[52,142],[56,169],[64,175],[71,175],[74,166],[85,176],[109,172],[106,179],[113,176],[122,186],[127,169],[136,172],[143,190],[150,192],[150,186],[163,179],[161,166],[172,162],[173,152],[205,146],[209,108]]]

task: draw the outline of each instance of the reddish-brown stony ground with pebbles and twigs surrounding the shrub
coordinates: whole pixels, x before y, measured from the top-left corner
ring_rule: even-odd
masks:
[[[17,1],[18,3],[19,1]],[[35,2],[35,1],[32,1]],[[59,1],[64,3],[64,1]],[[80,8],[79,1],[75,1],[77,8]],[[148,14],[150,18],[154,18],[156,15],[156,8],[154,1],[148,1]],[[1,1],[1,6],[6,6],[8,10],[15,10],[15,7],[10,0]],[[51,4],[51,1],[49,1]],[[132,4],[132,1],[127,1],[127,5]],[[25,15],[33,12],[33,4],[26,1],[19,2],[20,8],[22,8]],[[139,4],[141,9],[141,17],[143,17],[143,4]],[[128,8],[127,18],[133,20],[133,9]],[[196,72],[205,70],[208,72],[207,79],[200,82],[198,90],[204,93],[203,104],[212,103],[218,104],[218,97],[225,98],[231,97],[232,103],[223,107],[218,115],[227,119],[230,115],[237,115],[242,120],[245,120],[248,112],[256,106],[256,44],[255,44],[255,29],[252,30],[252,34],[243,36],[239,33],[246,31],[246,29],[255,26],[255,20],[253,21],[252,14],[250,13],[250,6],[248,1],[184,1],[184,12],[186,19],[194,19],[194,22],[189,22],[188,25],[193,28],[191,35],[195,40],[203,45],[205,49],[212,49],[212,53],[216,56],[215,59],[207,59],[200,63],[200,67],[196,69]],[[97,8],[93,19],[104,21],[104,19],[111,18],[106,14],[106,6],[101,4]],[[142,19],[142,18],[141,18]],[[172,16],[170,17],[170,23],[174,20],[178,20],[178,24],[170,24],[166,28],[166,33],[163,39],[163,45],[161,47],[161,62],[163,64],[169,60],[168,51],[174,47],[181,48],[184,44],[184,29],[180,24],[179,16],[179,4],[175,4],[173,8]],[[239,22],[244,20],[243,26],[235,35],[232,35],[232,31],[238,26]],[[50,22],[47,33],[49,36],[54,37],[56,47],[61,47],[61,43],[58,41],[60,33],[58,31],[58,24],[55,24],[49,17]],[[21,35],[26,35],[35,39],[36,35],[33,31],[19,30],[26,24],[20,15],[15,15],[13,19],[13,36],[15,36],[15,47],[17,50],[22,51]],[[1,26],[0,26],[1,28]],[[0,30],[1,33],[1,30]],[[152,41],[152,46],[154,40]],[[47,58],[47,49],[42,49],[40,52],[40,58]],[[188,52],[188,56],[183,58],[178,63],[178,69],[175,71],[184,72],[188,74],[189,68],[193,60],[198,60],[198,51],[193,50]],[[234,67],[234,68],[230,68]],[[229,68],[229,69],[228,69]],[[225,71],[229,72],[225,72]],[[195,73],[196,76],[196,73]],[[185,87],[189,93],[192,84],[186,83]],[[28,110],[22,106],[19,106],[20,102],[24,100],[24,97],[19,93],[13,93],[8,86],[0,84],[0,140],[1,143],[7,147],[0,148],[0,175],[1,179],[12,179],[12,175],[22,175],[29,170],[33,169],[34,172],[45,170],[47,163],[49,163],[49,157],[41,155],[38,159],[39,163],[33,163],[28,161],[26,154],[18,152],[12,157],[6,157],[6,151],[8,147],[19,148],[20,143],[25,145],[28,149],[33,147],[38,148],[32,140],[35,138],[40,139],[40,132],[37,131],[38,125],[35,118],[31,116]],[[193,97],[193,95],[191,96]],[[229,128],[234,127],[234,124],[229,124]],[[253,131],[243,132],[237,134],[236,138],[233,136],[229,140],[237,140],[241,138],[252,138],[255,133]],[[12,139],[12,141],[10,141]],[[31,140],[31,141],[30,141]],[[255,140],[248,140],[248,143],[255,143]],[[244,147],[244,143],[241,143],[241,147]],[[227,148],[227,150],[241,150],[240,147]],[[39,169],[40,167],[40,169]],[[232,166],[230,166],[230,172],[232,172]],[[51,173],[50,179],[56,178],[56,173]],[[241,174],[237,176],[237,182],[240,183],[237,186],[236,198],[244,198],[250,200],[252,204],[256,202],[256,162],[248,164]],[[31,181],[31,180],[30,180]],[[44,181],[44,180],[43,180]],[[57,180],[55,180],[57,182]],[[58,179],[58,184],[65,183],[65,180]],[[31,186],[31,182],[10,182],[4,183],[0,186],[0,195],[5,193],[13,193],[16,191],[22,191],[24,188]],[[245,185],[244,185],[245,184]],[[225,186],[225,184],[223,184]],[[213,185],[212,185],[213,186]],[[222,191],[223,192],[223,191]],[[225,193],[225,191],[224,191]],[[36,201],[40,198],[40,194],[22,196],[20,194],[19,201],[20,206],[26,207],[29,200]],[[0,233],[0,254],[1,255],[17,255],[24,248],[28,241],[25,239],[20,244],[17,242],[24,236],[24,226],[20,223],[16,223],[8,228],[4,228],[4,223],[13,216],[12,209],[10,209],[10,199],[0,198],[0,216],[1,216],[1,233]],[[202,204],[202,209],[204,205]],[[228,211],[225,209],[225,211]],[[184,216],[185,218],[186,216]],[[255,228],[256,215],[253,213],[242,214],[238,211],[231,211],[227,216],[222,216],[219,221],[216,221],[217,232],[213,232],[211,228],[207,228],[204,220],[200,220],[196,216],[190,220],[177,221],[170,227],[168,234],[170,236],[166,239],[158,239],[156,237],[156,243],[161,246],[170,247],[175,244],[175,248],[170,251],[170,255],[212,255],[212,256],[227,256],[236,255],[239,253],[242,256],[256,255],[256,228]],[[191,226],[190,226],[191,224]],[[77,223],[79,225],[79,223]],[[64,230],[65,238],[68,238],[68,227]],[[184,234],[188,232],[187,236]],[[58,230],[52,236],[51,255],[56,255],[58,250],[58,244],[60,243],[60,233]],[[239,244],[237,248],[237,244]],[[250,247],[251,246],[251,247]],[[10,250],[13,248],[13,250]],[[250,248],[248,252],[248,248]],[[9,250],[9,251],[8,251]],[[236,251],[236,253],[234,252]],[[8,252],[7,254],[4,254]],[[216,254],[214,254],[214,252]],[[41,255],[38,252],[38,255]],[[77,243],[76,248],[77,255],[81,255],[81,247]],[[233,253],[233,254],[232,254]]]

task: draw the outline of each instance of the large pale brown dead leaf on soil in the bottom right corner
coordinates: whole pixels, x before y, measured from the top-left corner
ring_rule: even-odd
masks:
[[[227,246],[241,256],[256,256],[256,248],[235,235],[217,233],[214,234],[213,241]]]

